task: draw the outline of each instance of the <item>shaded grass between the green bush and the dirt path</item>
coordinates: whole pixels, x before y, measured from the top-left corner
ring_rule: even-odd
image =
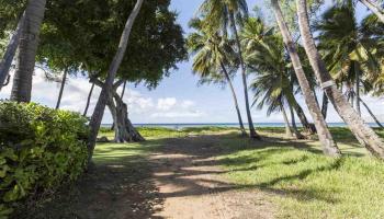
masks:
[[[110,146],[98,146],[94,166],[75,185],[64,185],[55,194],[27,200],[13,218],[150,218],[162,199],[151,181],[145,155],[137,152],[137,148]],[[149,150],[156,145],[148,143],[147,147],[139,150]],[[116,150],[120,153],[114,157]]]

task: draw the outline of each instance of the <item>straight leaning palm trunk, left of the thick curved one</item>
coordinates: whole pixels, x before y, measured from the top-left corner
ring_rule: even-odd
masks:
[[[278,2],[278,0],[271,0],[271,3],[272,3],[272,9],[274,11],[274,15],[275,15],[275,19],[278,21],[280,31],[283,35],[284,44],[287,48],[293,67],[295,69],[295,73],[296,73],[298,83],[302,88],[302,91],[303,91],[303,94],[305,97],[305,102],[308,105],[310,115],[314,118],[315,126],[317,129],[319,140],[320,140],[321,146],[323,146],[324,153],[327,155],[331,155],[331,157],[338,157],[340,154],[340,150],[338,149],[336,142],[334,141],[334,138],[332,138],[332,136],[327,127],[327,124],[324,120],[320,107],[318,106],[318,104],[316,102],[315,94],[314,94],[314,92],[309,85],[309,82],[305,76],[305,72],[303,70],[303,66],[301,64],[301,60],[300,60],[300,57],[297,54],[296,45],[293,43],[291,33],[285,24],[283,14],[282,14],[280,5],[279,5],[279,2]]]

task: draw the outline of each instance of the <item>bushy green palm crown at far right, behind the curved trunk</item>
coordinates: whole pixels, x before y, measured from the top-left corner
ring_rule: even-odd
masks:
[[[370,79],[381,73],[383,56],[377,51],[383,50],[383,36],[372,37],[364,25],[358,25],[351,1],[327,10],[315,27],[329,72],[338,84],[347,84],[346,95],[361,116],[360,92],[370,92]]]

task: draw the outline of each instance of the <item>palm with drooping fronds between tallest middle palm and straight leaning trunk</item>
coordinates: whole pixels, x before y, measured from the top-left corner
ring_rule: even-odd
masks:
[[[294,103],[292,78],[290,78],[292,68],[289,65],[290,60],[286,59],[281,37],[274,35],[271,28],[266,30],[260,19],[249,19],[241,33],[242,43],[246,45],[247,65],[256,72],[256,79],[251,83],[255,92],[253,104],[259,102],[258,108],[268,104],[268,115],[280,111],[286,124],[286,135],[292,136],[284,108],[284,105],[289,105],[290,110],[293,108]],[[304,138],[294,123],[292,124],[295,137]]]

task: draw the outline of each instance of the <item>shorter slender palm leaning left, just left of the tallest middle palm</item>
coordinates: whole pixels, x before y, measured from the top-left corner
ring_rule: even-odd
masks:
[[[227,66],[230,65],[229,62],[234,61],[235,51],[231,45],[218,33],[212,34],[204,30],[201,20],[192,20],[190,25],[196,31],[188,37],[188,47],[191,54],[194,55],[193,72],[199,73],[204,82],[227,82],[234,99],[241,134],[246,136],[247,132],[242,124],[237,95],[227,69]]]

